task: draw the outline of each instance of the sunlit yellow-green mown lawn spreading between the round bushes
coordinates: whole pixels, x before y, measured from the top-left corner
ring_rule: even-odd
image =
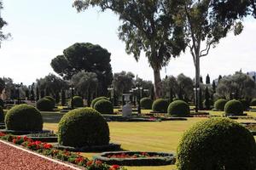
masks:
[[[148,111],[143,111],[148,112]],[[42,113],[44,116],[44,129],[57,131],[61,114]],[[211,111],[211,115],[221,115],[221,112]],[[256,116],[255,113],[249,113]],[[170,122],[108,122],[110,128],[111,142],[122,144],[124,150],[141,151],[172,151],[176,152],[177,144],[183,132],[191,127],[195,122],[206,118],[189,118],[188,121]],[[239,120],[239,122],[256,122],[253,120]],[[84,153],[84,156],[91,157],[96,153]],[[128,170],[135,169],[175,169],[175,166],[162,167],[127,167]]]

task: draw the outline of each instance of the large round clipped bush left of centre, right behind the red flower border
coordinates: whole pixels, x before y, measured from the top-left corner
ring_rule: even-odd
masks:
[[[88,107],[67,112],[61,118],[58,134],[58,143],[65,146],[109,144],[108,123],[98,111]]]

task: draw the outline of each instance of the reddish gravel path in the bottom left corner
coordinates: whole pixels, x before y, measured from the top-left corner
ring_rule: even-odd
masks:
[[[1,170],[74,170],[41,156],[20,150],[0,141],[0,169]]]

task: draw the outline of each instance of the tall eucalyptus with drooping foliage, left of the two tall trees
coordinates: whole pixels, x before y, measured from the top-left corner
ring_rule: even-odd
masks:
[[[173,12],[167,12],[165,0],[76,0],[73,6],[83,11],[89,6],[110,9],[119,15],[119,39],[125,42],[126,53],[138,60],[144,51],[154,70],[156,98],[161,96],[160,70],[171,57],[177,57],[185,48],[183,28],[175,25]]]

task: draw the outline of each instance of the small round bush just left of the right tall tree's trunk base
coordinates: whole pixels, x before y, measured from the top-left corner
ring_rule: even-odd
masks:
[[[175,100],[169,106],[167,110],[169,116],[189,116],[189,105],[183,100]]]

